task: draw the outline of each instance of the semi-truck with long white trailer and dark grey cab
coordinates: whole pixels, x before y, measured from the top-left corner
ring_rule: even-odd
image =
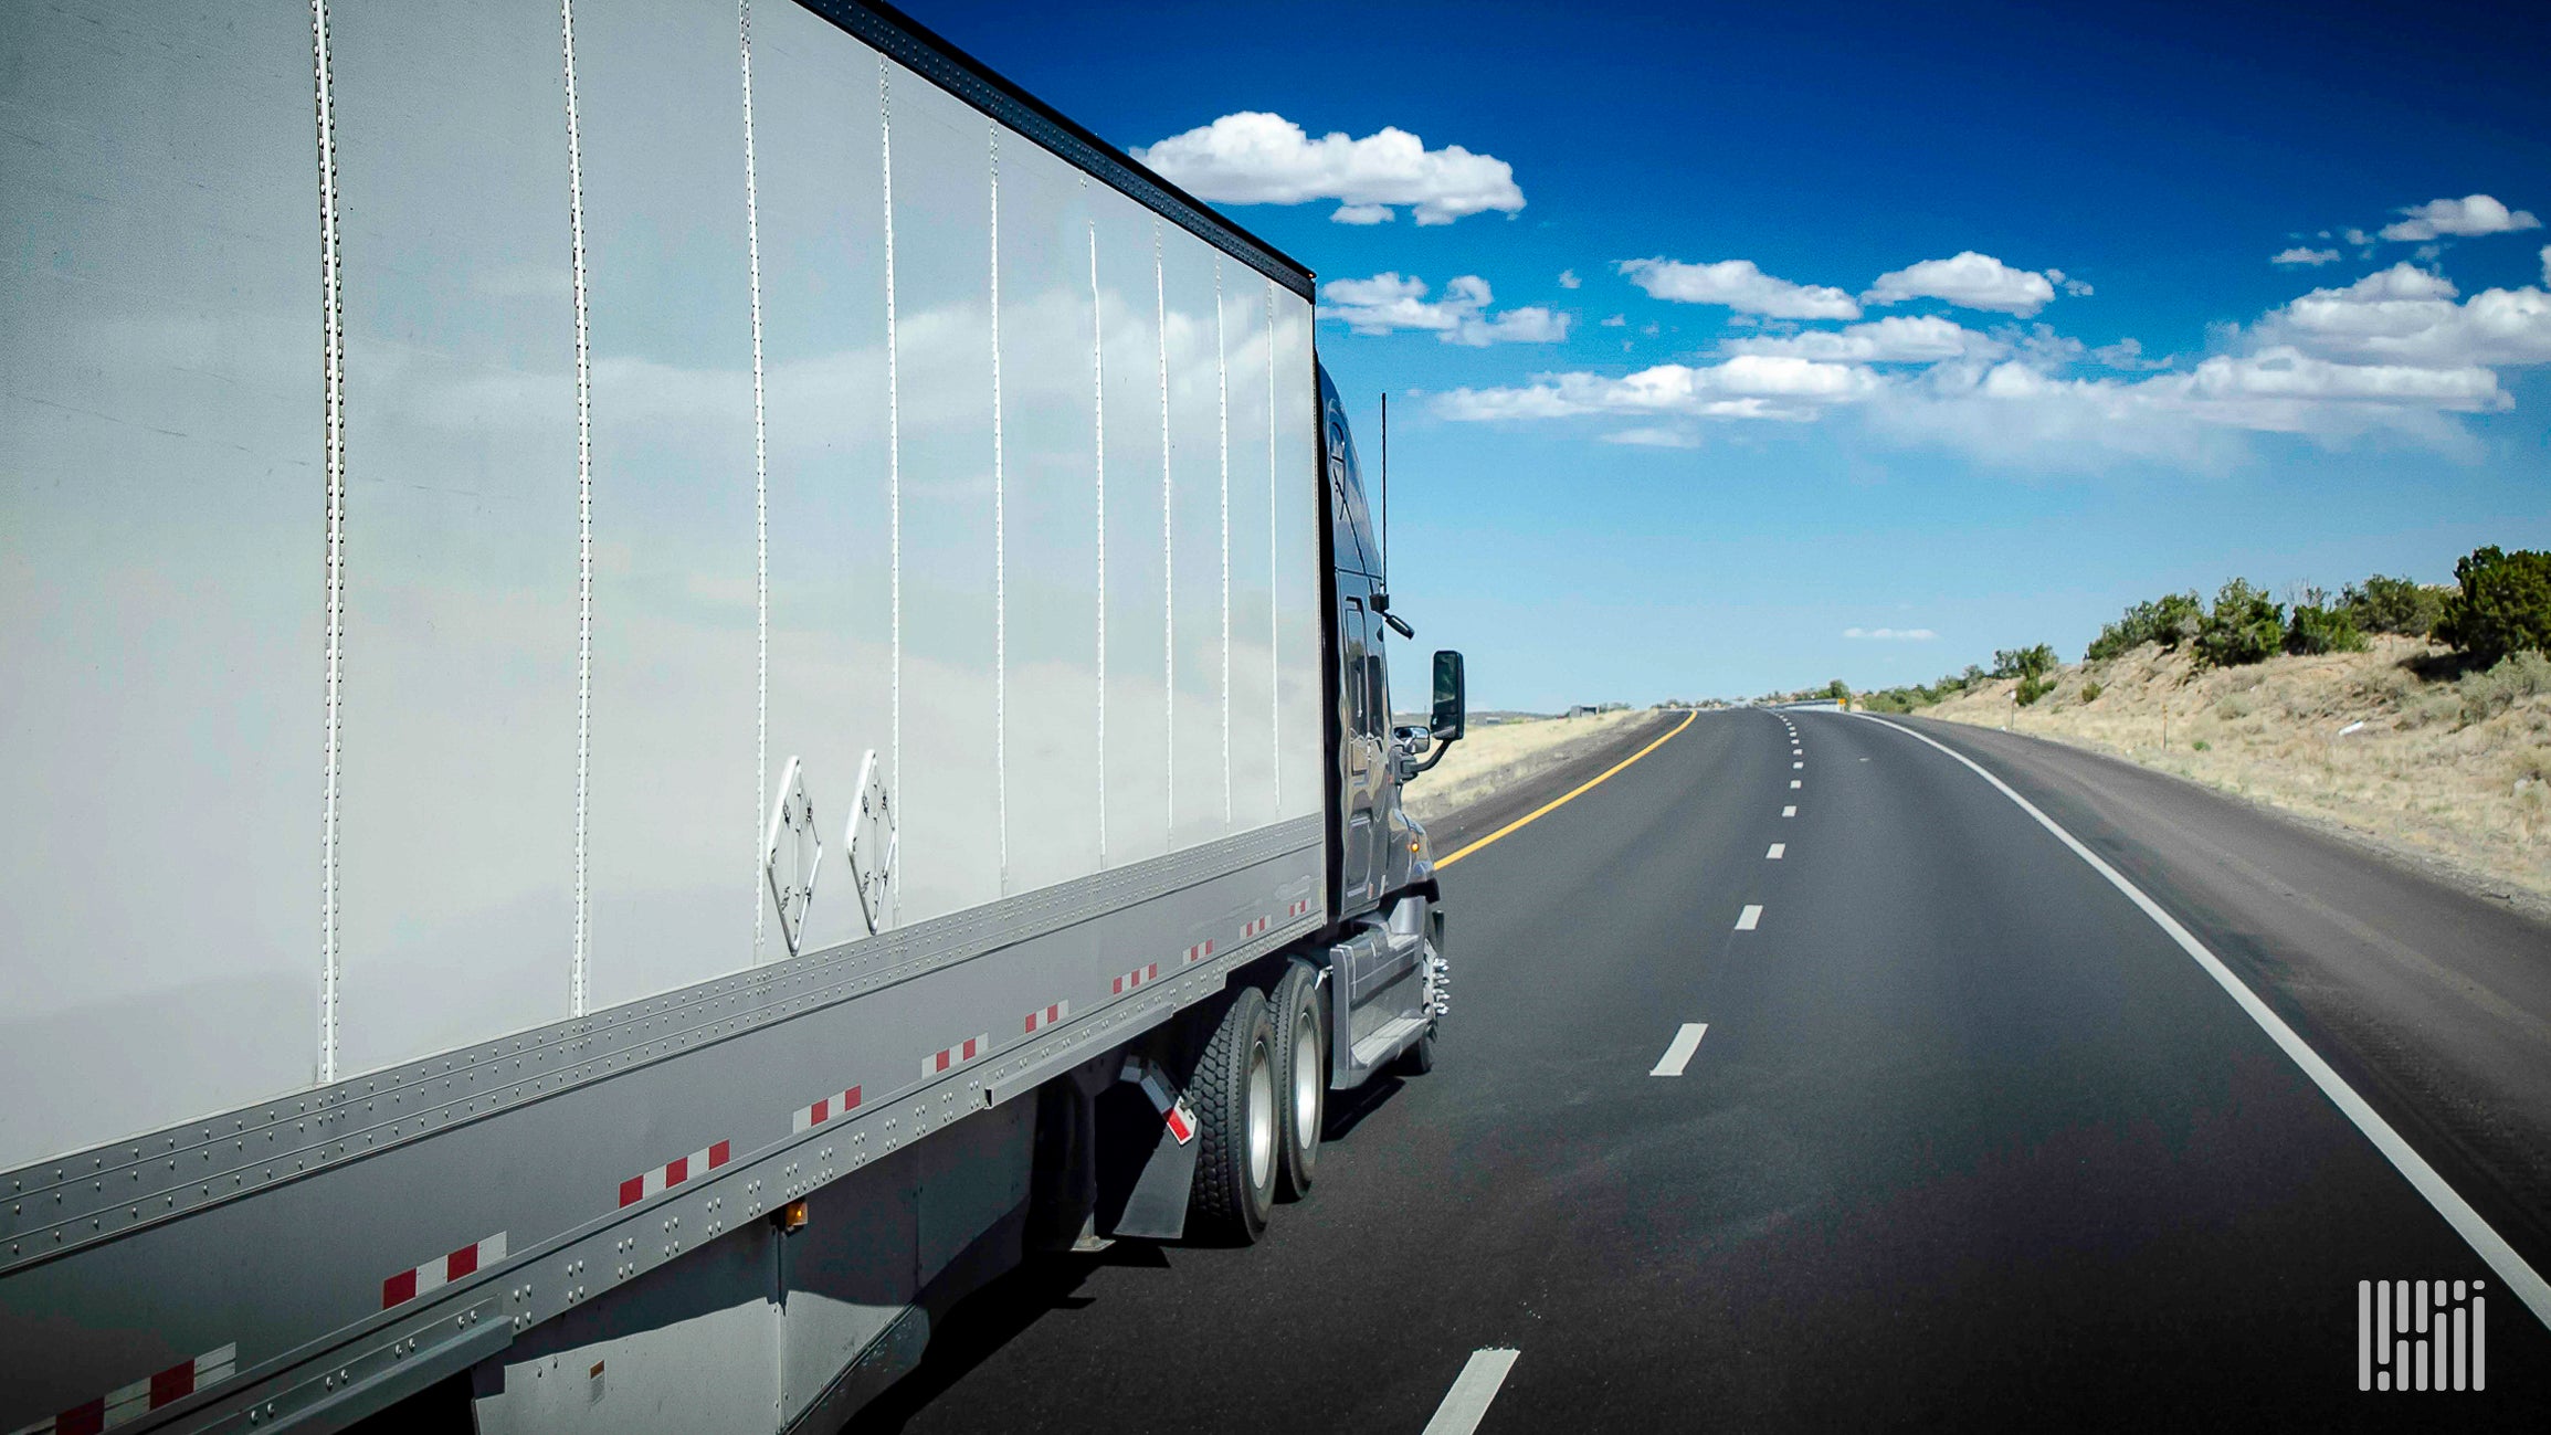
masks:
[[[0,51],[0,1430],[829,1430],[1431,1065],[1298,263],[875,3]]]

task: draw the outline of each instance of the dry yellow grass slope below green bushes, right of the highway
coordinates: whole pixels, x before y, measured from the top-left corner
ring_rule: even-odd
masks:
[[[2436,658],[2378,637],[2372,653],[2196,670],[2186,653],[2138,647],[2064,668],[2018,721],[2008,681],[1923,714],[2130,757],[2551,900],[2551,663],[2418,678]],[[2089,683],[2099,696],[2084,701]]]

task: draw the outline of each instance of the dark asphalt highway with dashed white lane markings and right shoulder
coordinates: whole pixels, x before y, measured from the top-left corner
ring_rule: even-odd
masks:
[[[1699,716],[1444,872],[1436,1071],[1265,1241],[1036,1259],[857,1427],[2551,1427],[2551,935],[2107,767]],[[2487,1389],[2360,1392],[2370,1280]]]

